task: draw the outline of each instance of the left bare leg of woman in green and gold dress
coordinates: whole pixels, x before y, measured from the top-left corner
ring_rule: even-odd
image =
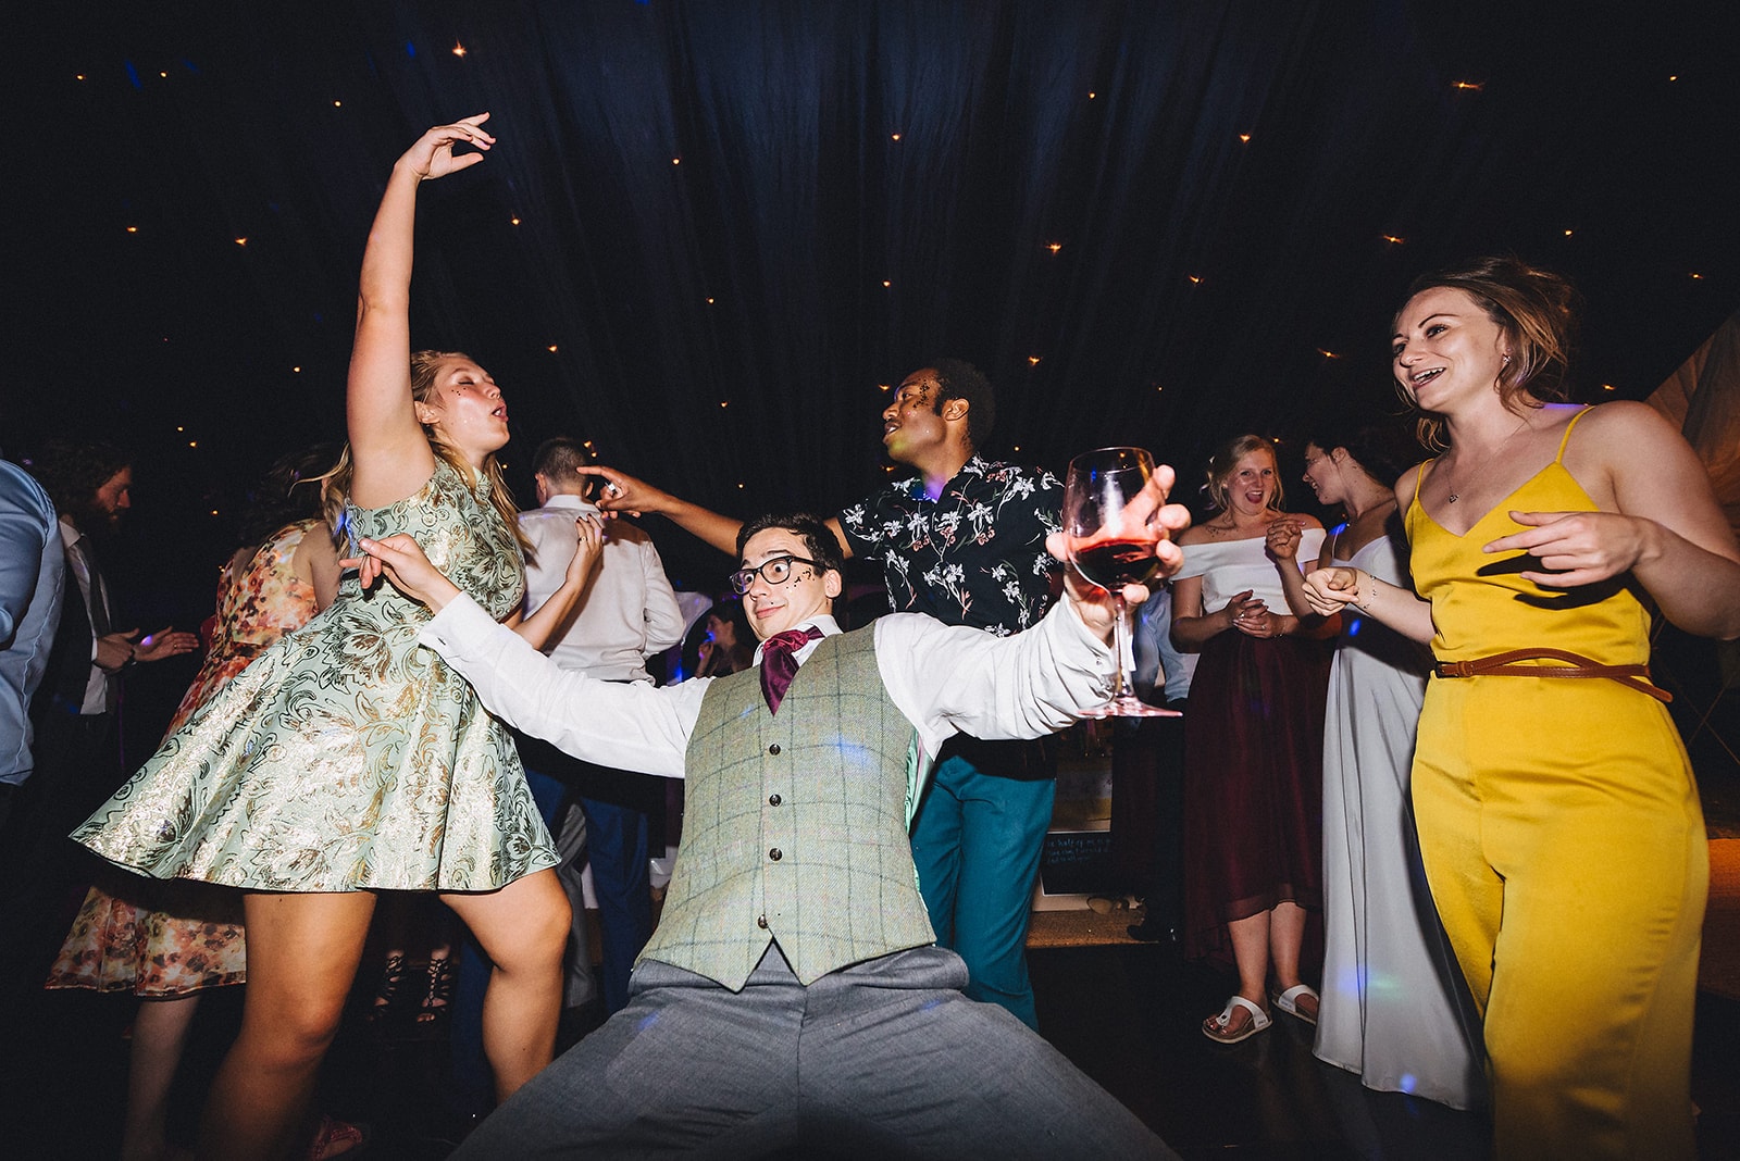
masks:
[[[205,1102],[200,1158],[291,1158],[306,1145],[320,1060],[338,1032],[374,895],[249,892],[242,1031]]]

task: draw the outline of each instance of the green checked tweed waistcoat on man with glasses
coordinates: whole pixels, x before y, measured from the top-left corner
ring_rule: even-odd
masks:
[[[741,991],[769,940],[804,984],[936,942],[907,836],[914,728],[875,636],[825,638],[769,714],[757,669],[706,688],[682,846],[642,958]]]

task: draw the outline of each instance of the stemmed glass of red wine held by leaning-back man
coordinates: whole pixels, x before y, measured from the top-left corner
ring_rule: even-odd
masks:
[[[1134,652],[1129,647],[1129,607],[1124,586],[1141,584],[1161,561],[1159,508],[1124,514],[1154,474],[1154,457],[1140,447],[1103,447],[1070,461],[1063,483],[1063,537],[1070,565],[1089,584],[1108,589],[1117,619],[1114,650],[1117,685],[1112,700],[1088,713],[1089,718],[1176,718],[1176,709],[1161,709],[1136,697]]]

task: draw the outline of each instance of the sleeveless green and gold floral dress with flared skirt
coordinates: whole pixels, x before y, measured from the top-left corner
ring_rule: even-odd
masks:
[[[444,462],[346,532],[409,532],[496,617],[525,587],[519,542]],[[259,892],[487,892],[553,867],[506,726],[418,633],[428,610],[381,582],[338,601],[231,680],[73,833],[162,879]]]

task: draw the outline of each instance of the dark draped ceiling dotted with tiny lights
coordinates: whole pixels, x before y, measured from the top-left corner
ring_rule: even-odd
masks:
[[[0,438],[118,426],[200,495],[341,431],[386,170],[480,109],[498,148],[423,195],[414,337],[496,374],[520,483],[566,431],[727,511],[832,509],[933,355],[992,375],[995,452],[1194,466],[1394,412],[1401,289],[1486,250],[1580,280],[1585,398],[1740,301],[1735,17],[1702,5],[38,7]]]

